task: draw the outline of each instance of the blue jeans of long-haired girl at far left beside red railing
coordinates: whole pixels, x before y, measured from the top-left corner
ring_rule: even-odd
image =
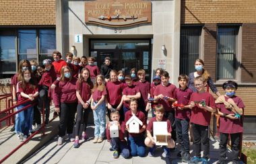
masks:
[[[24,108],[25,106],[27,106],[28,104],[24,104],[21,106],[18,106],[18,110],[21,110],[22,108]],[[20,120],[20,132],[22,132],[25,136],[28,136],[29,134],[29,130],[30,130],[30,120],[31,120],[31,113],[33,110],[33,106],[31,106],[30,108],[23,110],[22,112],[20,112],[19,115],[19,120]]]

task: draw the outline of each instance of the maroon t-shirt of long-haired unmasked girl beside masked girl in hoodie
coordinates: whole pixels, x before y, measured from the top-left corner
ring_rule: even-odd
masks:
[[[82,81],[82,83],[79,82],[79,80],[77,80],[76,82],[76,90],[80,91],[80,95],[83,99],[84,102],[88,101],[88,99],[90,99],[91,97],[91,89],[93,87],[92,82],[88,83],[86,81]],[[80,101],[78,101],[79,104],[81,104]]]

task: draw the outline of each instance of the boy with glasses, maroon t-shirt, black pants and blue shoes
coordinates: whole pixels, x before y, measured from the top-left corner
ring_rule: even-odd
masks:
[[[216,112],[214,97],[205,92],[206,81],[203,77],[195,77],[195,88],[197,92],[192,93],[189,99],[189,108],[191,109],[191,127],[193,131],[195,157],[192,157],[188,163],[208,162],[210,144],[208,129],[211,121],[212,112]],[[201,145],[203,157],[201,158]]]

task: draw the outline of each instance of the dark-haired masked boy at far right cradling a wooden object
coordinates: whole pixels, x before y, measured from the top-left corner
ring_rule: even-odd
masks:
[[[226,92],[224,101],[230,106],[228,108],[224,103],[216,104],[217,113],[220,115],[220,159],[218,163],[228,163],[226,159],[226,145],[228,138],[231,139],[232,163],[240,163],[239,151],[241,142],[241,133],[243,132],[243,123],[239,119],[239,115],[243,115],[245,105],[242,99],[235,95],[238,85],[234,81],[226,81],[222,88]],[[218,99],[216,100],[218,101]],[[234,111],[234,112],[233,112]],[[235,116],[236,114],[236,116]]]

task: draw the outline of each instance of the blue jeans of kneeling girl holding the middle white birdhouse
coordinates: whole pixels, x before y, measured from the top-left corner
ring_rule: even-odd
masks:
[[[129,136],[128,144],[131,149],[131,156],[135,157],[139,155],[139,157],[145,156],[146,146],[144,144],[144,136]]]

